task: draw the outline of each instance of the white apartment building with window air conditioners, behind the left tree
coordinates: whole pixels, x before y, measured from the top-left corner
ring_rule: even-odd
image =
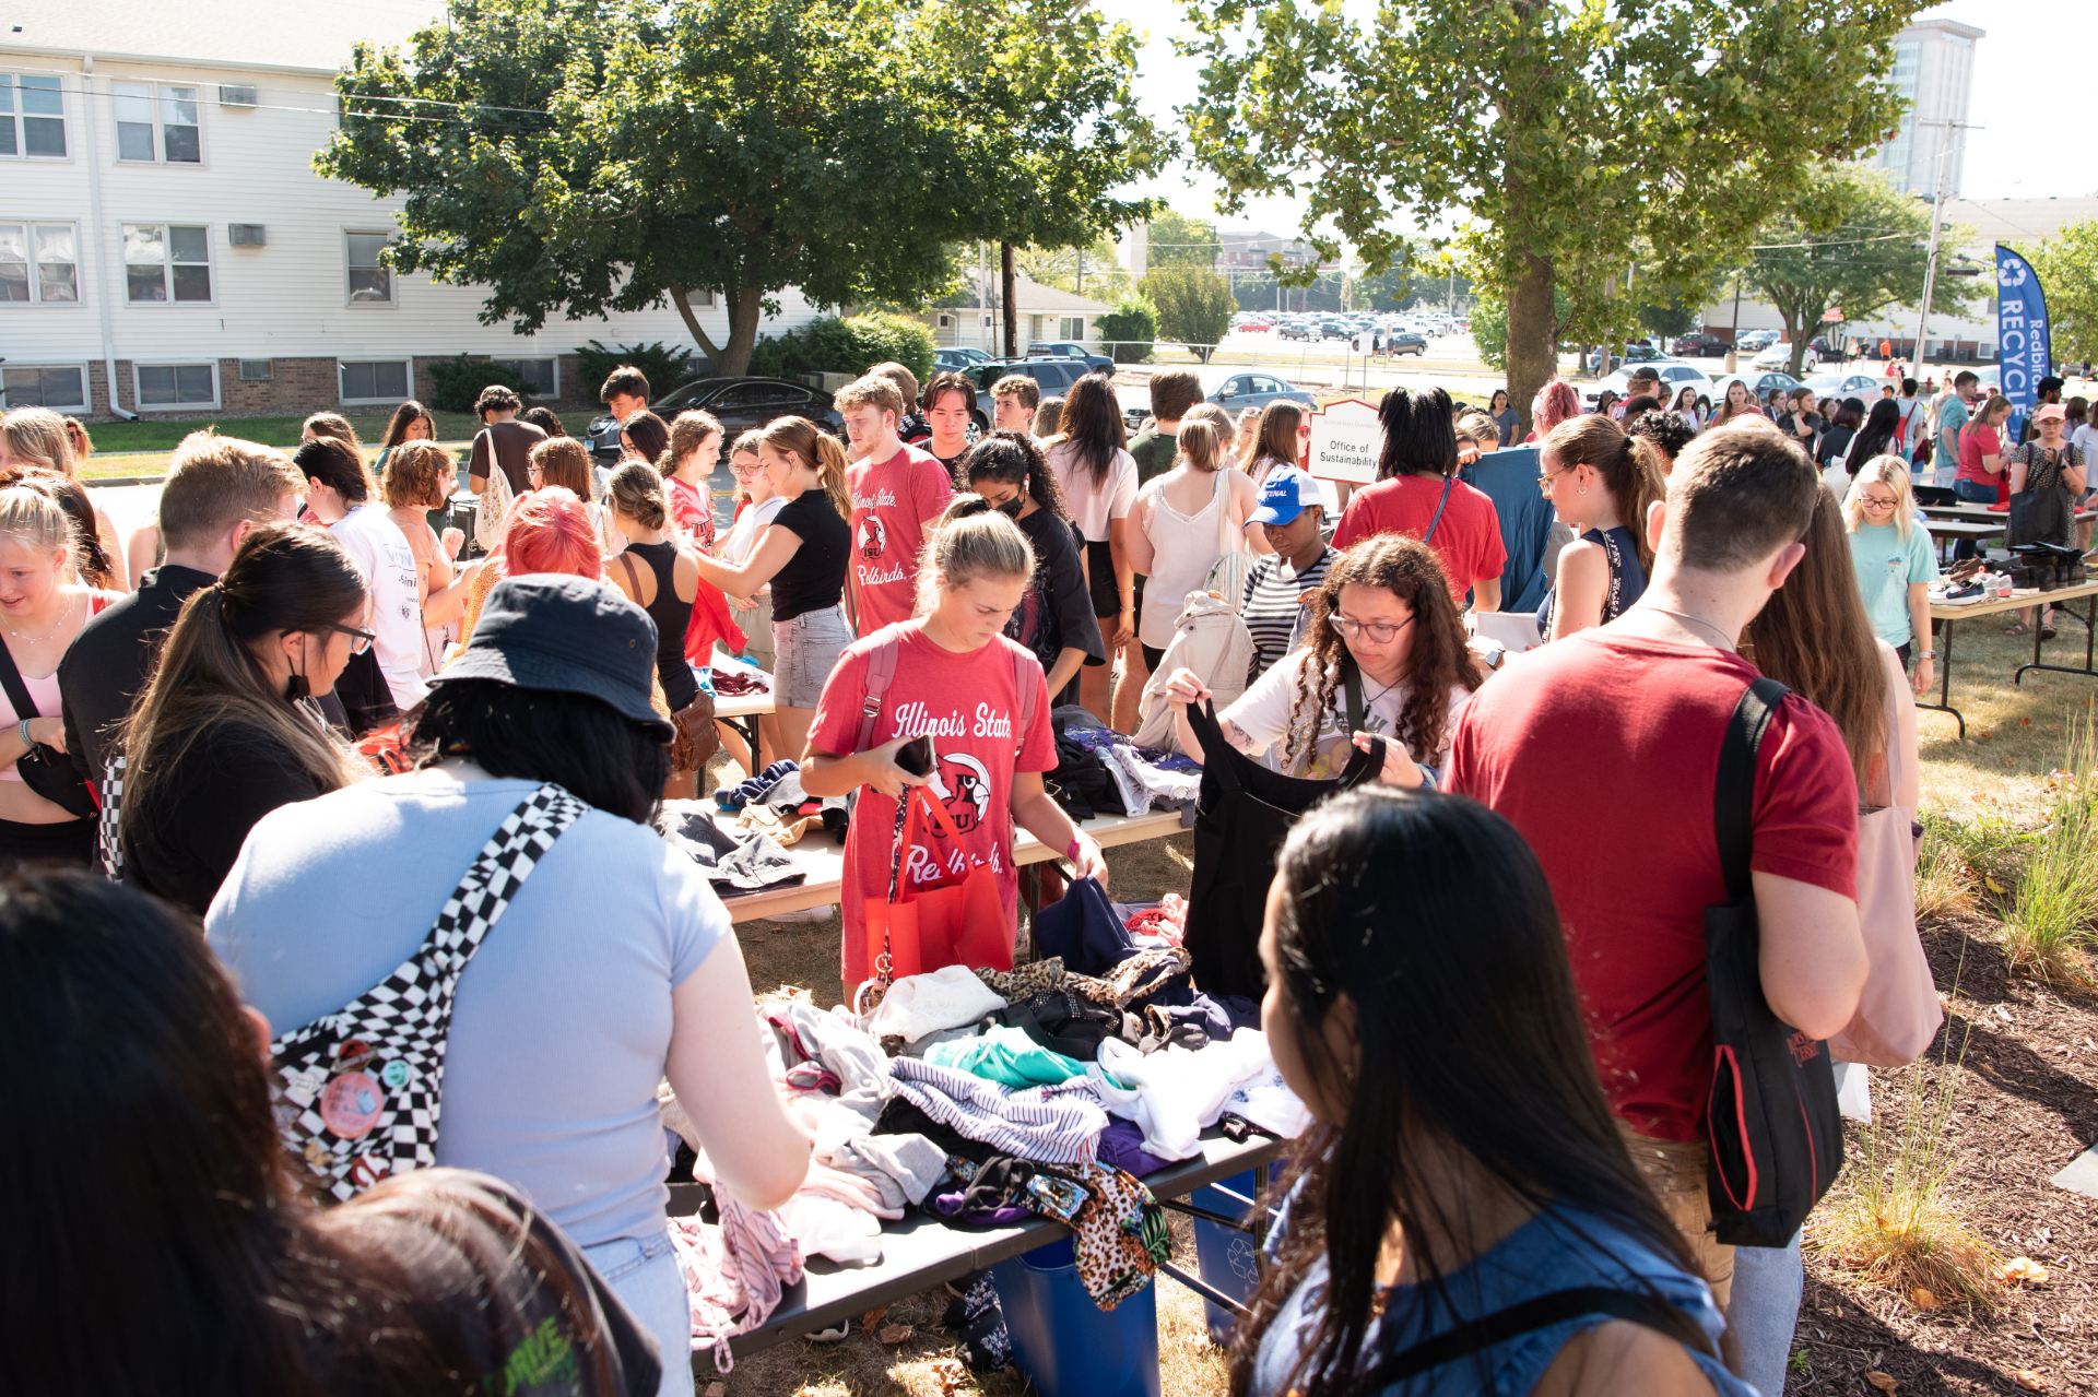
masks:
[[[690,344],[676,308],[483,325],[476,287],[392,275],[399,199],[323,180],[331,80],[441,0],[63,0],[0,29],[0,388],[69,413],[243,415],[430,396],[432,359],[590,403],[575,346]],[[780,294],[766,331],[814,319]],[[728,315],[701,310],[726,338]],[[659,388],[661,390],[661,388]]]

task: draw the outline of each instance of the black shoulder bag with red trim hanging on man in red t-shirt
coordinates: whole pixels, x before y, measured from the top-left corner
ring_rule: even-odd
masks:
[[[1727,902],[1706,908],[1712,996],[1706,1194],[1712,1231],[1729,1246],[1787,1246],[1842,1168],[1829,1045],[1781,1022],[1762,994],[1762,936],[1748,866],[1756,751],[1785,694],[1777,680],[1756,680],[1741,692],[1712,795]]]

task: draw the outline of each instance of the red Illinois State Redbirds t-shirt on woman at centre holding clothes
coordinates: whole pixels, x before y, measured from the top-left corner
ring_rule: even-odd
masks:
[[[1055,770],[1055,730],[1049,726],[1049,694],[1041,661],[1024,646],[994,638],[980,650],[957,654],[925,638],[923,621],[906,621],[854,642],[837,661],[816,701],[810,728],[812,751],[843,757],[860,751],[862,703],[866,701],[866,657],[881,644],[896,644],[896,673],[875,715],[869,747],[900,736],[932,736],[932,797],[946,808],[961,835],[959,847],[940,831],[904,850],[902,883],[938,887],[969,868],[990,868],[999,879],[1005,933],[1011,936],[1020,902],[1020,871],[1013,864],[1013,774]],[[1034,669],[1032,713],[1020,711],[1018,665]],[[896,847],[896,801],[860,787],[860,801],[845,833],[843,898],[845,994],[866,980],[860,927],[864,904],[890,896],[890,856]],[[927,971],[940,969],[927,965]]]

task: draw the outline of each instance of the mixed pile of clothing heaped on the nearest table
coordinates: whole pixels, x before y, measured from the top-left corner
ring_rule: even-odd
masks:
[[[795,1265],[875,1263],[881,1225],[911,1210],[963,1227],[1049,1217],[1076,1235],[1087,1294],[1114,1309],[1171,1254],[1148,1175],[1200,1156],[1200,1135],[1219,1124],[1240,1139],[1292,1139],[1309,1124],[1257,1028],[1257,1005],[1196,990],[1187,952],[1133,936],[1097,883],[1076,883],[1034,931],[1055,954],[1011,971],[908,975],[864,1019],[799,996],[759,1003],[780,1099],[814,1139],[801,1191],[764,1215]],[[673,1099],[665,1124],[692,1147],[692,1177],[709,1183],[703,1141]],[[734,1231],[673,1229],[688,1273],[705,1263],[759,1277],[736,1286],[751,1296],[738,1317],[724,1324],[711,1307],[707,1334],[694,1321],[697,1347],[770,1317],[762,1277],[780,1275],[780,1259],[738,1252],[770,1235],[747,1219]],[[967,1290],[950,1321],[971,1357],[1003,1363],[988,1282]]]

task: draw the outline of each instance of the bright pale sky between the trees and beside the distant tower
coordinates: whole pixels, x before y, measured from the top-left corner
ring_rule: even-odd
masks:
[[[1141,82],[1146,109],[1166,122],[1173,107],[1196,94],[1198,69],[1173,52],[1185,29],[1177,0],[1097,0],[1114,19],[1146,34]],[[1351,4],[1353,8],[1353,4]],[[2098,164],[2085,159],[2092,96],[2085,55],[2098,44],[2098,0],[1951,0],[1920,19],[1957,19],[1987,29],[1974,46],[1974,90],[1968,120],[1966,199],[2035,199],[2098,193]],[[2067,61],[2043,63],[2033,55]],[[1185,162],[1171,166],[1141,193],[1164,197],[1185,214],[1215,216],[1217,185]],[[1253,199],[1223,220],[1232,229],[1297,233],[1299,199]]]

